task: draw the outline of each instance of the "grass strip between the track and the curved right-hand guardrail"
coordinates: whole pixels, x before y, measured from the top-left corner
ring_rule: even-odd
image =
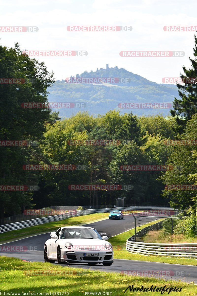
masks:
[[[161,219],[162,220],[162,219]],[[161,221],[158,220],[157,222]],[[144,226],[140,226],[140,229],[147,227],[156,222],[147,223]],[[140,230],[139,227],[136,228]],[[131,254],[126,251],[126,240],[135,233],[134,229],[118,234],[109,239],[109,242],[112,244],[114,249],[114,258],[115,259],[128,259],[128,260],[142,260],[142,261],[152,261],[152,262],[161,262],[161,263],[172,263],[172,264],[184,264],[184,265],[197,265],[197,260],[194,258],[177,258],[177,257],[162,257],[162,256],[144,256],[140,254]]]

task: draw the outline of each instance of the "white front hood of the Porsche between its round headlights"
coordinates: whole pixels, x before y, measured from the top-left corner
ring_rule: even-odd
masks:
[[[60,239],[61,244],[64,245],[66,242],[71,242],[73,247],[68,249],[68,251],[77,251],[77,250],[107,250],[105,244],[107,241],[103,239]],[[112,250],[112,249],[110,249]]]

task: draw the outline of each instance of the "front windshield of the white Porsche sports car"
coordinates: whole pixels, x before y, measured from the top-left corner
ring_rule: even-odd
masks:
[[[102,239],[100,234],[91,228],[64,228],[60,239]]]

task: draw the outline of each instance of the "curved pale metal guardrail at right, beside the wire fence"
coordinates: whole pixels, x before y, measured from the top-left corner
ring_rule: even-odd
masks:
[[[150,230],[160,229],[162,221],[147,226],[136,233],[136,237],[140,237]],[[189,257],[197,258],[197,243],[188,244],[158,244],[146,242],[134,242],[134,235],[126,241],[126,250],[130,253],[138,253],[141,255],[157,255],[170,257]]]

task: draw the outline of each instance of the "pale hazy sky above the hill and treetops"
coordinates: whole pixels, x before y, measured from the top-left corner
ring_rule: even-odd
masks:
[[[0,26],[37,26],[35,33],[0,33],[1,45],[26,50],[86,50],[86,57],[38,57],[55,79],[118,66],[151,81],[179,77],[191,67],[195,32],[166,32],[165,25],[197,26],[197,1],[0,0]],[[131,32],[69,32],[69,25],[130,25]],[[120,57],[121,51],[184,51],[184,57]]]

